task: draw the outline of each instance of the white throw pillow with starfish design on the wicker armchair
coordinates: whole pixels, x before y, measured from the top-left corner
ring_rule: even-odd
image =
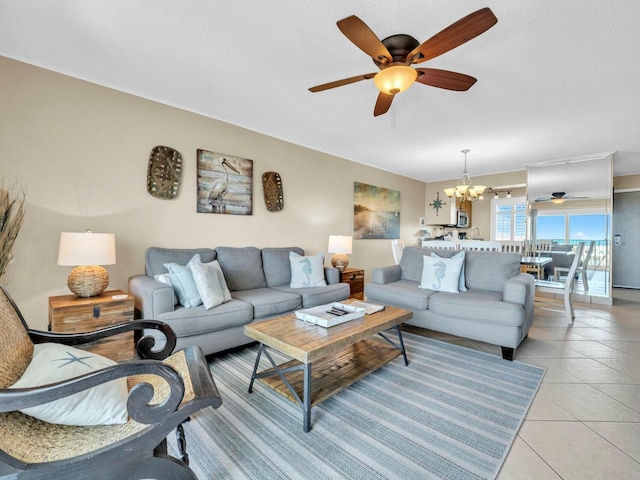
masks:
[[[11,388],[47,385],[111,365],[116,365],[116,362],[96,353],[58,343],[39,343],[34,345],[31,363]],[[127,379],[118,378],[68,397],[25,408],[21,412],[61,425],[126,423],[127,396]]]

